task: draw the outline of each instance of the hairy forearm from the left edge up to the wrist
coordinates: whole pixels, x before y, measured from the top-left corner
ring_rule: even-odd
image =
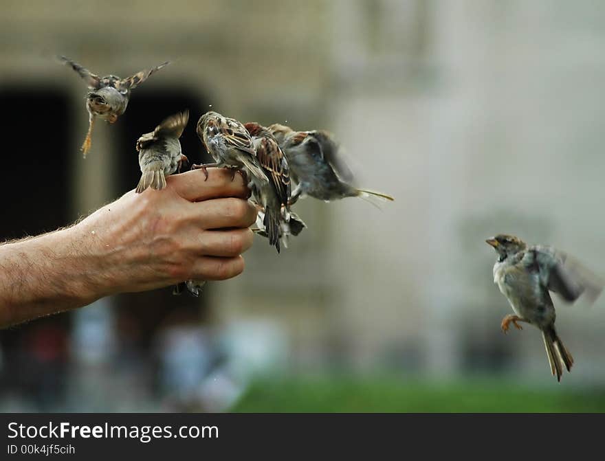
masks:
[[[0,246],[0,327],[99,297],[94,257],[76,227]]]

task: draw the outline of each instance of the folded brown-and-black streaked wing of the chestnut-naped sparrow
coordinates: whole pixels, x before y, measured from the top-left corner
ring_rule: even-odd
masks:
[[[281,203],[287,205],[290,199],[290,173],[283,150],[275,138],[268,132],[257,138],[256,157],[273,183]]]

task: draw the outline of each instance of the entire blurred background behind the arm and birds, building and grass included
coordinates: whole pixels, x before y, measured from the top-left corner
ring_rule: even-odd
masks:
[[[518,234],[605,275],[605,5],[595,1],[4,0],[0,238],[67,225],[135,187],[135,140],[197,117],[326,128],[358,183],[199,299],[102,299],[0,332],[1,411],[602,411],[605,297],[563,306],[556,383],[485,238]],[[175,62],[98,122],[52,61],[128,76]],[[206,157],[207,158],[207,157]]]

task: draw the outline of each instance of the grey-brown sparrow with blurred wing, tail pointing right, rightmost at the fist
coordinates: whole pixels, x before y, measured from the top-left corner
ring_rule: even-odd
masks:
[[[294,131],[281,124],[269,126],[269,131],[283,149],[296,181],[290,205],[305,195],[323,201],[355,196],[393,201],[388,194],[351,185],[353,174],[338,155],[339,146],[327,131]]]

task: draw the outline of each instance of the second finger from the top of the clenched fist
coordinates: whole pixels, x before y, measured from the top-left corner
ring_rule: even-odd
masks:
[[[256,221],[256,207],[242,199],[214,199],[192,203],[202,229],[250,227]]]

